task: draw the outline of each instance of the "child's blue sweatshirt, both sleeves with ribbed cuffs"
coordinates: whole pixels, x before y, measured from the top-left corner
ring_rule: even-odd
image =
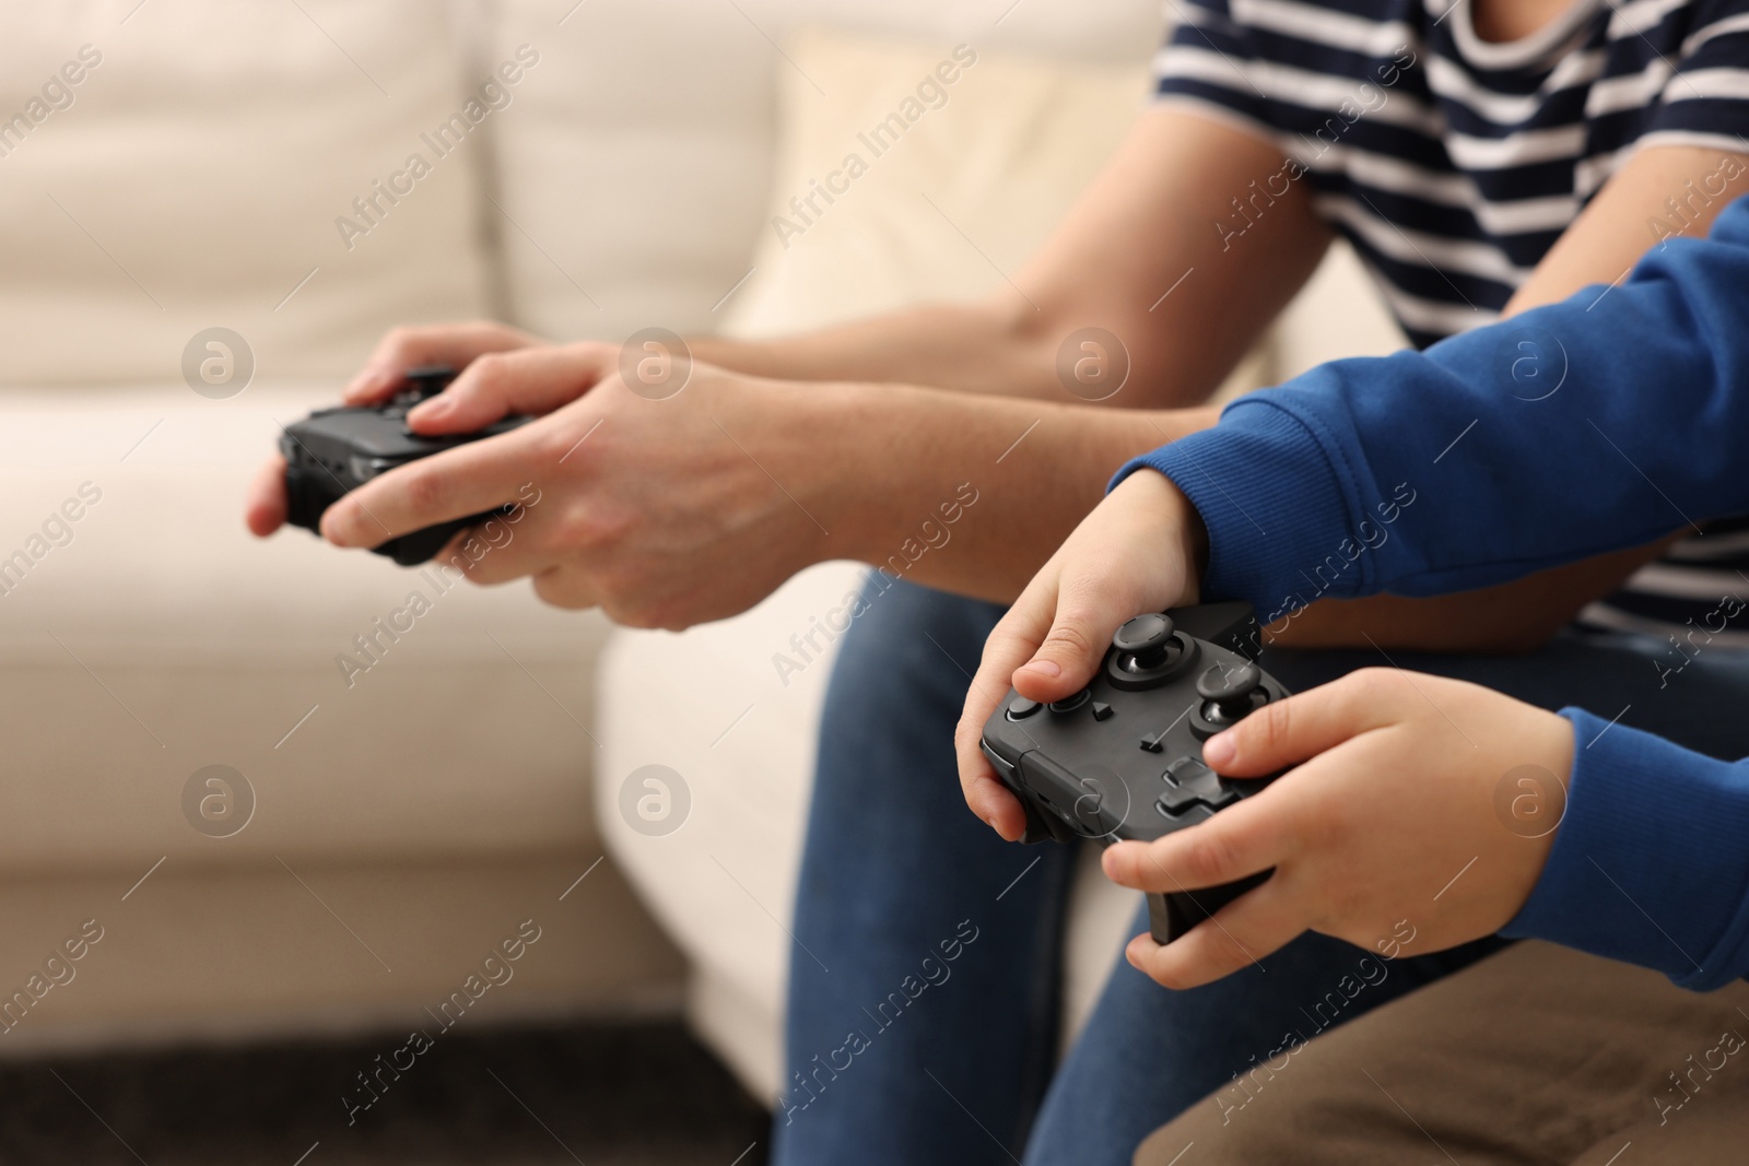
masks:
[[[1483,587],[1749,514],[1749,198],[1620,287],[1424,353],[1322,365],[1112,484],[1140,467],[1202,514],[1205,593],[1268,621],[1319,598]],[[1749,760],[1562,715],[1583,746],[1567,815],[1506,933],[1695,989],[1749,974]]]

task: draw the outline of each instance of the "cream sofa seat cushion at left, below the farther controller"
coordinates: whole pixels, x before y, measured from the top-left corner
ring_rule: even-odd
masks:
[[[332,392],[0,395],[0,871],[593,846],[600,615],[245,531],[276,420]],[[255,794],[234,837],[185,813],[213,764]]]

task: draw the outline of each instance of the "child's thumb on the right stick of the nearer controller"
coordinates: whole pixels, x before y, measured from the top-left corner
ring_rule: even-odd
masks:
[[[1341,680],[1265,704],[1242,722],[1209,738],[1203,760],[1235,778],[1261,778],[1331,750],[1401,717],[1415,699],[1408,673],[1362,668]]]

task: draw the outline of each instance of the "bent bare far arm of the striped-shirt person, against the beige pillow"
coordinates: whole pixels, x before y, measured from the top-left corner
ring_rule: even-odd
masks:
[[[1191,110],[1142,114],[1039,252],[988,299],[771,341],[693,341],[710,364],[791,381],[888,381],[1076,404],[1058,350],[1116,337],[1116,407],[1193,406],[1221,385],[1317,267],[1329,227],[1303,184],[1230,245],[1212,224],[1282,154]],[[1084,355],[1079,344],[1076,358]]]

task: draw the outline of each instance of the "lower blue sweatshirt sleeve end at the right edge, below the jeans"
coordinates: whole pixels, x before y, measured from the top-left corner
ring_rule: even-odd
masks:
[[[1749,762],[1567,708],[1574,764],[1548,864],[1502,935],[1709,991],[1749,974]]]

